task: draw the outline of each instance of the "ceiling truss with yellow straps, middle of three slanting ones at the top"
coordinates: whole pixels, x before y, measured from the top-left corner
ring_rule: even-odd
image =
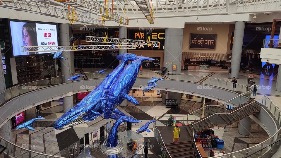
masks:
[[[107,18],[109,20],[119,23],[119,25],[121,24],[129,25],[128,18],[124,18],[119,14],[114,13],[111,9],[104,7],[93,0],[67,0],[67,1],[54,0],[54,1],[61,2],[63,4],[78,8],[83,11],[87,11],[97,16],[101,16],[103,19]]]

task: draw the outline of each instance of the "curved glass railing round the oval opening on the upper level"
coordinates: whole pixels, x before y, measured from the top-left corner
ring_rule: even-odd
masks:
[[[107,73],[111,71],[106,71]],[[98,74],[96,71],[95,72],[86,72],[86,73],[75,73],[73,75],[78,75],[78,74],[83,74],[85,77],[80,77],[80,80],[87,80],[87,79],[98,79],[98,78],[104,78],[107,74]],[[199,83],[202,85],[208,85],[208,86],[214,86],[214,87],[220,87],[222,89],[226,90],[233,90],[232,85],[233,83],[230,81],[226,80],[221,80],[217,78],[210,78],[206,76],[200,76],[200,75],[191,75],[191,74],[184,74],[184,73],[162,73],[162,72],[155,72],[155,71],[142,71],[141,73],[138,74],[138,78],[151,78],[151,77],[157,77],[157,78],[164,78],[165,80],[180,80],[180,81],[187,81],[187,82],[194,82],[194,83]],[[62,76],[57,76],[57,77],[52,77],[52,78],[46,78],[42,80],[37,80],[33,82],[28,82],[24,83],[21,85],[17,85],[14,87],[11,87],[4,92],[0,93],[0,105],[5,104],[9,100],[18,97],[20,95],[26,94],[28,92],[32,92],[35,90],[47,88],[50,86],[54,85],[59,85],[65,83],[65,78],[64,75]],[[198,87],[200,88],[200,87]],[[244,85],[237,84],[236,86],[236,92],[239,94],[245,94],[249,87],[246,87]],[[34,157],[42,157],[42,155],[46,157],[56,157],[56,158],[61,158],[59,156],[54,156],[54,155],[47,155],[47,154],[42,154],[42,153],[37,153],[31,150],[26,150],[22,147],[19,147],[7,140],[4,140],[4,138],[1,138],[0,141],[4,141],[6,145],[8,146],[13,146],[14,148],[18,148],[17,151],[21,152],[23,155],[29,152],[32,152],[32,155]],[[9,148],[8,148],[9,149]],[[7,151],[8,151],[7,149]],[[11,148],[10,148],[11,149]],[[9,151],[8,151],[9,152]]]

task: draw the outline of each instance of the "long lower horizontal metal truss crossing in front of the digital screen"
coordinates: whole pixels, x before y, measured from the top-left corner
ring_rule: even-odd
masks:
[[[136,49],[136,45],[87,45],[87,46],[22,46],[23,52],[56,52],[56,51],[95,51],[95,50],[119,50]],[[59,49],[61,48],[61,49]]]

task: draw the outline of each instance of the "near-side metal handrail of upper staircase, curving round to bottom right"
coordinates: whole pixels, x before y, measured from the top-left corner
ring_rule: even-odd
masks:
[[[264,97],[262,97],[262,98],[260,98],[260,99],[263,99],[263,98],[268,98],[268,97],[264,96]],[[258,99],[258,100],[260,100],[260,99]],[[269,98],[268,98],[268,99],[269,99]],[[255,101],[253,101],[253,102],[256,102],[256,101],[258,101],[258,100],[255,100]],[[270,100],[270,101],[271,101],[271,100]],[[251,102],[251,103],[249,103],[249,104],[252,104],[253,102]],[[271,102],[272,102],[272,101],[271,101]],[[247,104],[247,105],[245,105],[245,106],[243,106],[243,107],[246,107],[246,106],[248,106],[249,104]],[[274,104],[274,103],[273,103],[273,104]],[[241,108],[243,108],[243,107],[241,107]],[[275,105],[275,107],[277,107],[277,106]],[[241,109],[241,108],[239,108],[239,109]],[[239,109],[236,109],[235,111],[237,111],[237,110],[239,110]],[[277,109],[280,111],[280,109],[279,109],[278,107],[277,107]],[[234,112],[234,111],[232,111],[232,112]],[[231,112],[231,113],[232,113],[232,112]],[[281,112],[281,111],[280,111],[280,112]],[[217,114],[231,114],[231,113],[217,113]],[[213,115],[216,115],[216,114],[213,114]],[[213,115],[211,115],[211,116],[213,116]],[[208,117],[206,117],[205,119],[207,119],[207,118],[209,118],[209,117],[211,117],[211,116],[208,116]],[[200,121],[198,121],[198,122],[201,122],[201,121],[203,121],[203,120],[205,120],[205,119],[202,119],[202,120],[200,120]],[[198,122],[196,122],[196,123],[198,123]],[[195,125],[196,123],[194,123],[193,125]],[[193,125],[191,126],[192,129],[193,129]],[[249,147],[249,148],[246,148],[246,149],[242,149],[242,150],[239,150],[239,151],[236,151],[236,152],[227,153],[227,154],[225,154],[225,155],[234,154],[234,153],[238,153],[238,152],[241,152],[241,151],[249,150],[249,149],[251,149],[251,148],[253,148],[253,147],[256,147],[256,146],[258,146],[258,145],[260,145],[260,144],[263,144],[264,142],[266,142],[266,141],[272,139],[278,132],[280,132],[280,130],[281,130],[281,127],[279,128],[279,130],[277,130],[277,132],[276,132],[274,135],[272,135],[272,136],[269,137],[267,140],[265,140],[265,141],[263,141],[263,142],[261,142],[261,143],[255,145],[255,146],[252,146],[252,147]],[[193,135],[194,135],[194,132],[193,132]],[[195,138],[194,138],[194,141],[195,141]],[[197,146],[196,146],[196,148],[197,148]],[[217,158],[217,157],[222,157],[222,156],[223,156],[223,155],[215,156],[215,157],[211,157],[211,158]]]

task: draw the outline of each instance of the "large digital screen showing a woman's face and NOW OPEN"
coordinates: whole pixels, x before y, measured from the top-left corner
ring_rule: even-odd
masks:
[[[46,52],[22,52],[22,46],[57,46],[56,25],[10,21],[13,56],[46,54]]]

